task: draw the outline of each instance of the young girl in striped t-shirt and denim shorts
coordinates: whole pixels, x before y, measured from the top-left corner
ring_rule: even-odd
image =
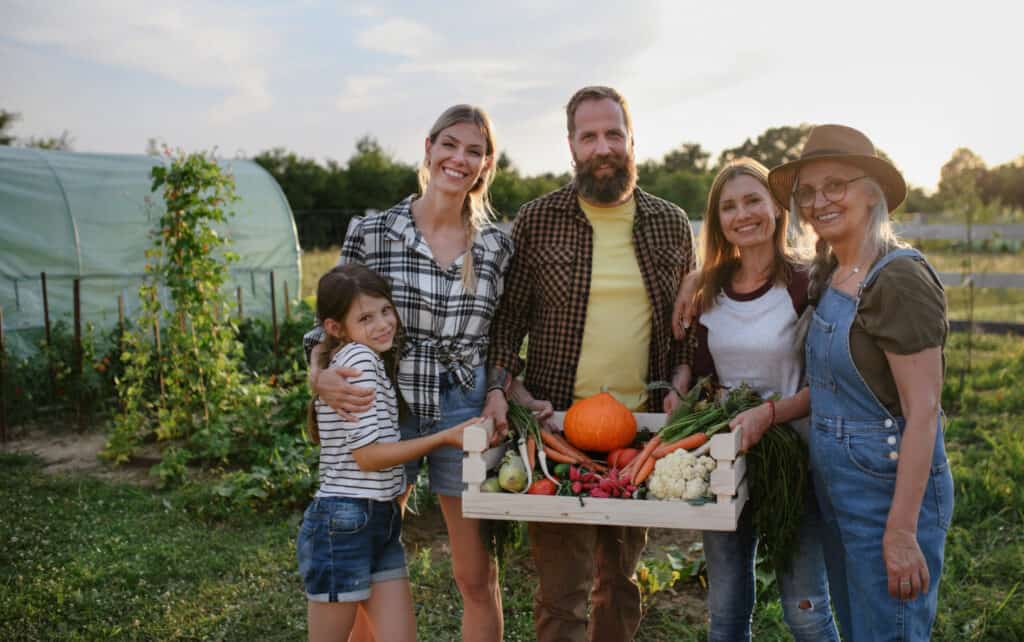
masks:
[[[402,464],[439,446],[462,447],[471,419],[418,439],[399,441],[398,406],[382,354],[393,363],[400,329],[387,282],[348,264],[325,274],[316,313],[327,334],[323,367],[346,367],[353,383],[374,389],[370,410],[344,421],[318,398],[310,433],[321,444],[319,489],[302,518],[299,573],[309,600],[311,641],[348,639],[359,603],[379,640],[415,640],[416,618],[401,546],[396,499],[406,488]]]

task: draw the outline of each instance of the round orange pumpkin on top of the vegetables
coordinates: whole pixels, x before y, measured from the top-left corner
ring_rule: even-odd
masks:
[[[633,442],[637,420],[607,392],[573,403],[562,423],[565,438],[581,451],[608,453]]]

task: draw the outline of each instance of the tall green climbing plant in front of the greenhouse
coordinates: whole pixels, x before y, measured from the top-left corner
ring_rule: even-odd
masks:
[[[168,160],[169,166],[152,172],[153,190],[161,190],[165,207],[146,251],[142,312],[135,331],[124,337],[122,412],[104,453],[115,462],[125,461],[148,437],[187,439],[218,424],[243,394],[241,350],[222,292],[237,256],[215,229],[238,198],[234,181],[204,154],[179,153]]]

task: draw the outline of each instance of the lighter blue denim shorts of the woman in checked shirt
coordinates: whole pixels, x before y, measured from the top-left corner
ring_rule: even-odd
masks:
[[[440,420],[433,422],[410,415],[399,425],[401,438],[423,437],[479,417],[487,396],[485,369],[482,366],[476,368],[473,377],[476,385],[472,389],[466,389],[452,375],[443,373],[440,382]],[[466,484],[462,482],[462,458],[463,452],[460,448],[447,445],[427,455],[427,474],[432,491],[449,497],[462,497],[462,491],[466,488]],[[422,462],[415,460],[406,464],[406,479],[409,483],[416,482]]]

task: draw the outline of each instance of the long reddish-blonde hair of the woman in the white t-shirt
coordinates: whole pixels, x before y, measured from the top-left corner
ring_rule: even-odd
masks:
[[[765,198],[771,202],[778,214],[775,219],[775,231],[772,232],[772,246],[775,250],[772,281],[787,285],[793,277],[794,268],[800,262],[797,249],[790,245],[786,238],[790,213],[772,197],[768,186],[768,168],[751,158],[734,159],[715,176],[708,194],[703,224],[700,226],[701,268],[696,298],[701,310],[714,307],[715,299],[739,266],[739,249],[726,239],[719,211],[722,189],[726,183],[739,176],[750,176],[757,180],[764,187]]]

